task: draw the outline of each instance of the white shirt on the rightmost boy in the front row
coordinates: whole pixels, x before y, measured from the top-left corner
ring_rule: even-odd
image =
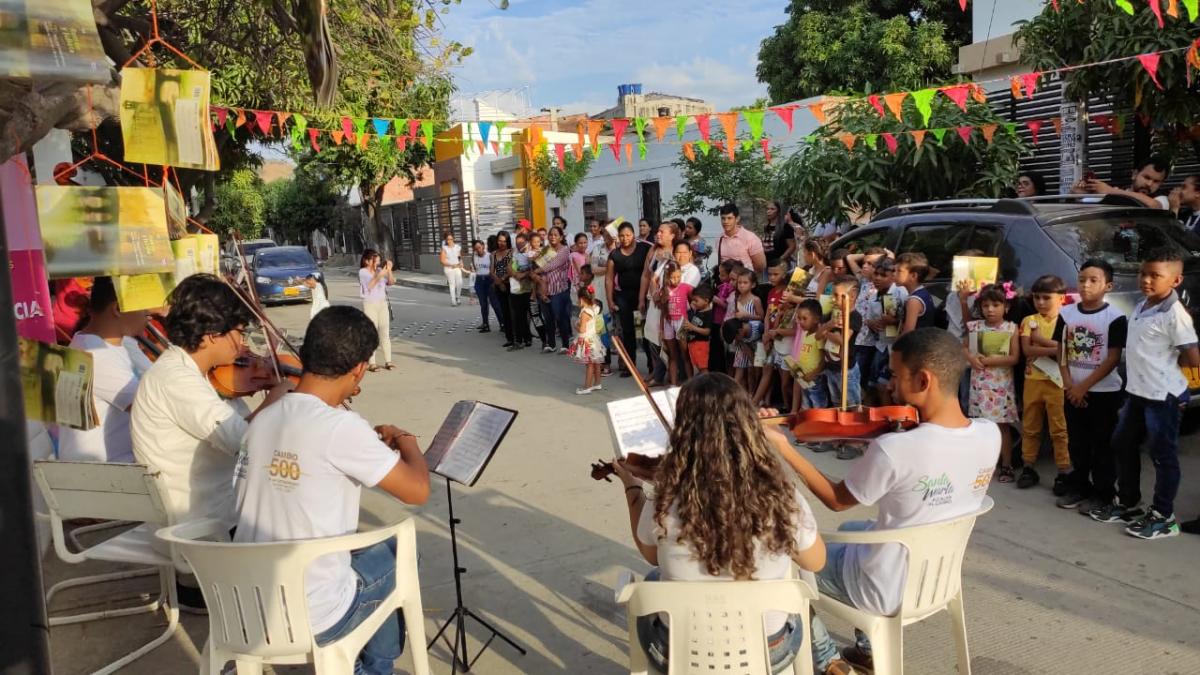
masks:
[[[1195,344],[1192,316],[1175,291],[1150,309],[1146,300],[1138,303],[1126,345],[1126,392],[1153,401],[1183,394],[1188,380],[1180,370],[1180,350]]]

